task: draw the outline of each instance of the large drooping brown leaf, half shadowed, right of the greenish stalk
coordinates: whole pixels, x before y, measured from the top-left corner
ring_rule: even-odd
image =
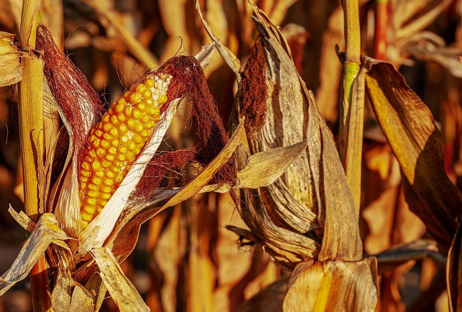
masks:
[[[429,109],[389,63],[366,59],[372,106],[403,172],[410,209],[435,238],[450,244],[462,195],[444,166],[444,141]]]

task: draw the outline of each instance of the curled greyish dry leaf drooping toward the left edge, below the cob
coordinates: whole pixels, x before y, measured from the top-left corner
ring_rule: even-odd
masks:
[[[11,268],[0,278],[0,296],[16,282],[24,279],[38,258],[48,246],[56,240],[70,239],[59,227],[51,213],[44,213],[37,222],[34,231],[27,239]]]

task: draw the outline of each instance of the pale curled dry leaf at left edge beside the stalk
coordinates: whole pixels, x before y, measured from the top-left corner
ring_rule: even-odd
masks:
[[[22,78],[20,52],[13,44],[14,34],[0,32],[0,87],[17,83]]]

